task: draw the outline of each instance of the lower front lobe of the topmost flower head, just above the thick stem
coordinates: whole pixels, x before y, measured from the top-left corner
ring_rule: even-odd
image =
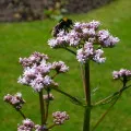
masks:
[[[95,50],[92,43],[87,43],[83,48],[78,50],[78,61],[85,63],[88,59],[92,59],[98,63],[105,62],[106,58],[103,58],[104,51],[102,49]]]

